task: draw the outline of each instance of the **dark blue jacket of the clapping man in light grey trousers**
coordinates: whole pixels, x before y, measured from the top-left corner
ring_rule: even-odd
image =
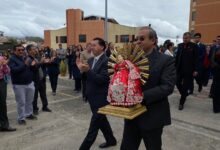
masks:
[[[22,57],[16,55],[9,59],[12,84],[27,85],[33,81],[33,72],[24,62]]]

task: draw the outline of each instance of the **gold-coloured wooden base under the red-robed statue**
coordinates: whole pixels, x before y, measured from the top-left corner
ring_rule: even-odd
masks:
[[[147,111],[146,107],[141,104],[130,108],[106,105],[102,108],[99,108],[98,113],[132,120],[145,111]]]

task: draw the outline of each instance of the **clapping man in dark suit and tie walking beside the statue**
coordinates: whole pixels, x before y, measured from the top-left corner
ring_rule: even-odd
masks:
[[[78,66],[80,70],[87,73],[86,95],[92,110],[92,118],[87,136],[80,146],[80,150],[89,150],[94,143],[99,129],[102,131],[106,143],[101,144],[100,148],[106,148],[116,145],[116,139],[113,136],[111,126],[105,115],[98,114],[100,107],[108,104],[107,92],[109,85],[108,58],[104,53],[105,41],[101,38],[95,38],[92,42],[92,52],[94,58],[88,60],[88,64]]]

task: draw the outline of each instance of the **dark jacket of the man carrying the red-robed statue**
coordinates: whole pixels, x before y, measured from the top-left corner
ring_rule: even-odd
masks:
[[[144,99],[142,104],[147,112],[126,123],[135,123],[142,130],[161,128],[171,124],[168,95],[173,92],[176,83],[174,59],[154,50],[148,56],[150,62],[149,78],[142,86]]]

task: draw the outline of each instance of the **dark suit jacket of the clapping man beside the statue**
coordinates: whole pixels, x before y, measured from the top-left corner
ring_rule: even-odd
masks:
[[[93,60],[94,58],[88,60],[90,68],[92,68]],[[93,112],[108,104],[108,85],[108,58],[103,54],[96,62],[94,68],[87,72],[86,95]]]

